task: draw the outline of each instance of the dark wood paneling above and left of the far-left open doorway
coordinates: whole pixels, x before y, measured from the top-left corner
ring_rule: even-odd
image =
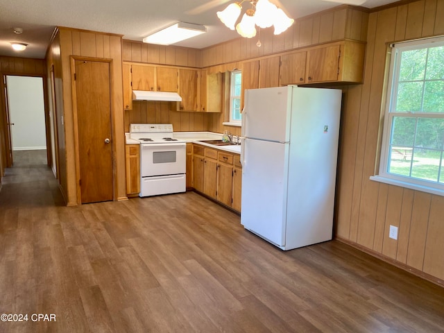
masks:
[[[5,140],[7,124],[5,95],[3,91],[3,75],[42,76],[45,80],[45,61],[43,59],[0,56],[0,79],[2,82],[0,85],[2,87],[0,92],[0,187],[1,177],[3,176],[4,169],[8,167],[8,157],[6,156],[7,149]],[[47,105],[45,105],[45,110],[47,110]]]

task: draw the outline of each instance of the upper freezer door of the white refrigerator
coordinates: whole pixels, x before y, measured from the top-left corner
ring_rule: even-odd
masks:
[[[242,112],[242,136],[289,142],[292,87],[247,89]]]

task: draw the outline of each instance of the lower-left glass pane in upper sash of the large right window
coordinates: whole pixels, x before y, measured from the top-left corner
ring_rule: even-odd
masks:
[[[396,112],[420,112],[422,101],[421,82],[404,82],[398,85]]]

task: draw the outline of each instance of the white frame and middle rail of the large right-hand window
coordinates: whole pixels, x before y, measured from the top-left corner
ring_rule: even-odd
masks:
[[[391,44],[390,67],[388,71],[388,84],[386,87],[386,102],[384,108],[384,125],[382,130],[382,144],[379,154],[379,173],[371,176],[371,180],[384,182],[386,184],[397,185],[409,189],[425,191],[431,194],[444,196],[444,183],[414,178],[411,176],[401,176],[395,173],[389,173],[388,167],[391,160],[391,135],[393,130],[393,119],[395,117],[410,117],[416,119],[441,118],[444,119],[444,112],[392,112],[396,105],[400,78],[400,60],[402,51],[411,51],[415,49],[425,49],[431,46],[443,46],[444,37],[431,37],[421,40],[411,40]],[[421,46],[418,48],[418,46]],[[427,66],[427,62],[426,62]],[[442,161],[441,161],[442,162]],[[444,166],[441,166],[441,178],[444,177]],[[439,180],[439,178],[438,178]]]

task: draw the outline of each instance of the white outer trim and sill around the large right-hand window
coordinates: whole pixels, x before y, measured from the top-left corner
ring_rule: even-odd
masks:
[[[427,40],[430,40],[427,42]],[[402,51],[409,49],[417,49],[418,45],[423,45],[424,47],[434,46],[436,43],[443,43],[444,37],[432,37],[421,40],[413,40],[407,42],[401,42],[397,44],[391,44],[391,48],[393,49],[395,46],[399,46],[402,48]],[[436,194],[438,196],[444,196],[444,185],[439,184],[437,182],[428,182],[427,180],[420,180],[417,178],[411,178],[407,176],[398,176],[393,173],[388,173],[386,171],[388,165],[388,155],[390,153],[389,144],[390,144],[390,135],[391,135],[391,119],[395,115],[395,112],[391,113],[391,107],[393,104],[393,85],[395,82],[398,82],[399,78],[399,70],[400,67],[394,67],[396,64],[396,56],[398,53],[398,49],[393,49],[391,52],[390,59],[390,69],[389,69],[389,78],[388,78],[388,86],[386,90],[386,105],[384,112],[384,129],[382,134],[382,147],[380,152],[380,160],[379,160],[379,174],[375,176],[370,176],[370,180],[374,180],[377,182],[383,182],[389,185],[395,185],[400,187],[406,187],[408,189],[414,189],[418,191],[424,191],[430,194]],[[416,116],[418,114],[412,113],[412,116]],[[422,117],[433,117],[434,114],[421,114]]]

